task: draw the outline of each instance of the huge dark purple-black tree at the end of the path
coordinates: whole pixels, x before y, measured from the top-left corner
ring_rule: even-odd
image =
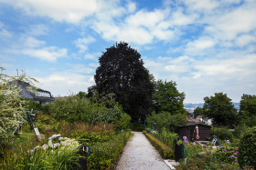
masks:
[[[99,63],[96,85],[89,88],[89,94],[93,89],[99,94],[114,94],[116,102],[133,118],[149,114],[153,85],[141,55],[121,42],[107,48]]]

